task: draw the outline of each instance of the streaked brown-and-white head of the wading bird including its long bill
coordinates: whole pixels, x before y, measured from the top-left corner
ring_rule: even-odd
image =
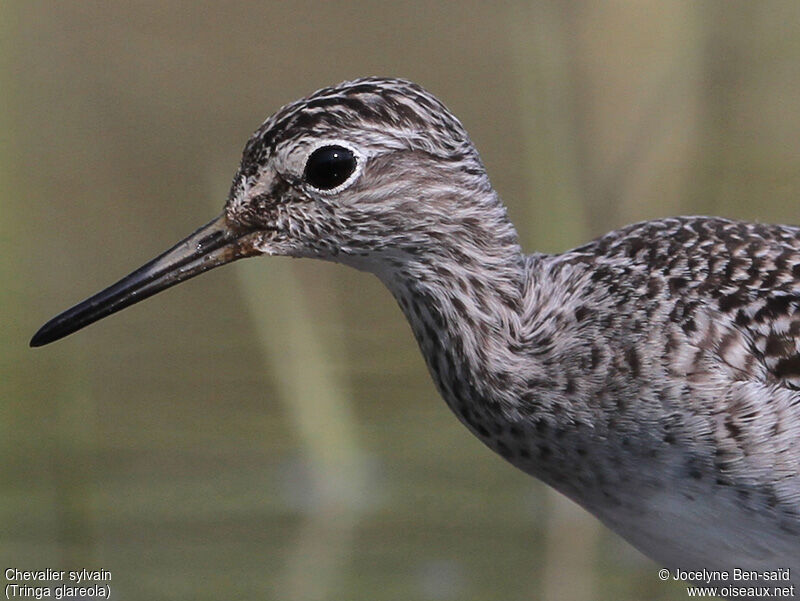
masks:
[[[380,272],[446,253],[453,235],[493,219],[506,224],[505,209],[467,132],[441,102],[404,80],[345,82],[262,124],[222,215],[49,321],[31,345],[237,259],[317,257]]]

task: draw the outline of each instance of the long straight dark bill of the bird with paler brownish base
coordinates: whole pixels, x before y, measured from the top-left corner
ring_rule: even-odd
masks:
[[[31,339],[31,346],[68,336],[204,271],[260,254],[253,245],[256,235],[252,230],[237,231],[221,215],[113,286],[48,321]]]

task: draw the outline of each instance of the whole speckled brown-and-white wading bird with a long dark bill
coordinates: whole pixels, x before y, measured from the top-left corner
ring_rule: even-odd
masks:
[[[798,582],[800,228],[670,217],[526,254],[461,121],[365,77],[269,117],[219,217],[31,346],[259,255],[377,276],[456,417],[658,564]]]

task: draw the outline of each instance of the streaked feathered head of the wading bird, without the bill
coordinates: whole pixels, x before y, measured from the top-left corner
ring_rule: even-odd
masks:
[[[375,269],[435,247],[457,215],[480,213],[464,191],[487,189],[475,147],[441,102],[416,84],[369,78],[270,117],[244,149],[225,217],[260,232],[262,253]]]

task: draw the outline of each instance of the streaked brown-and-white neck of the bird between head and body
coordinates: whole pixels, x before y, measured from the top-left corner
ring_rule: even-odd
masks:
[[[525,258],[504,211],[438,242],[377,275],[408,319],[441,395],[485,438],[487,423],[497,423],[515,395],[509,341],[523,305]]]

